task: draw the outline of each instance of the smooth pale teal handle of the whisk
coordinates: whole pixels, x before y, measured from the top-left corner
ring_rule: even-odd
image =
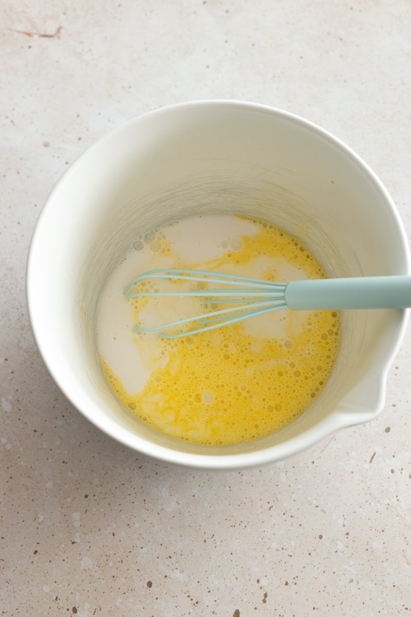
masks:
[[[285,302],[291,310],[405,309],[411,307],[411,276],[291,281]]]

